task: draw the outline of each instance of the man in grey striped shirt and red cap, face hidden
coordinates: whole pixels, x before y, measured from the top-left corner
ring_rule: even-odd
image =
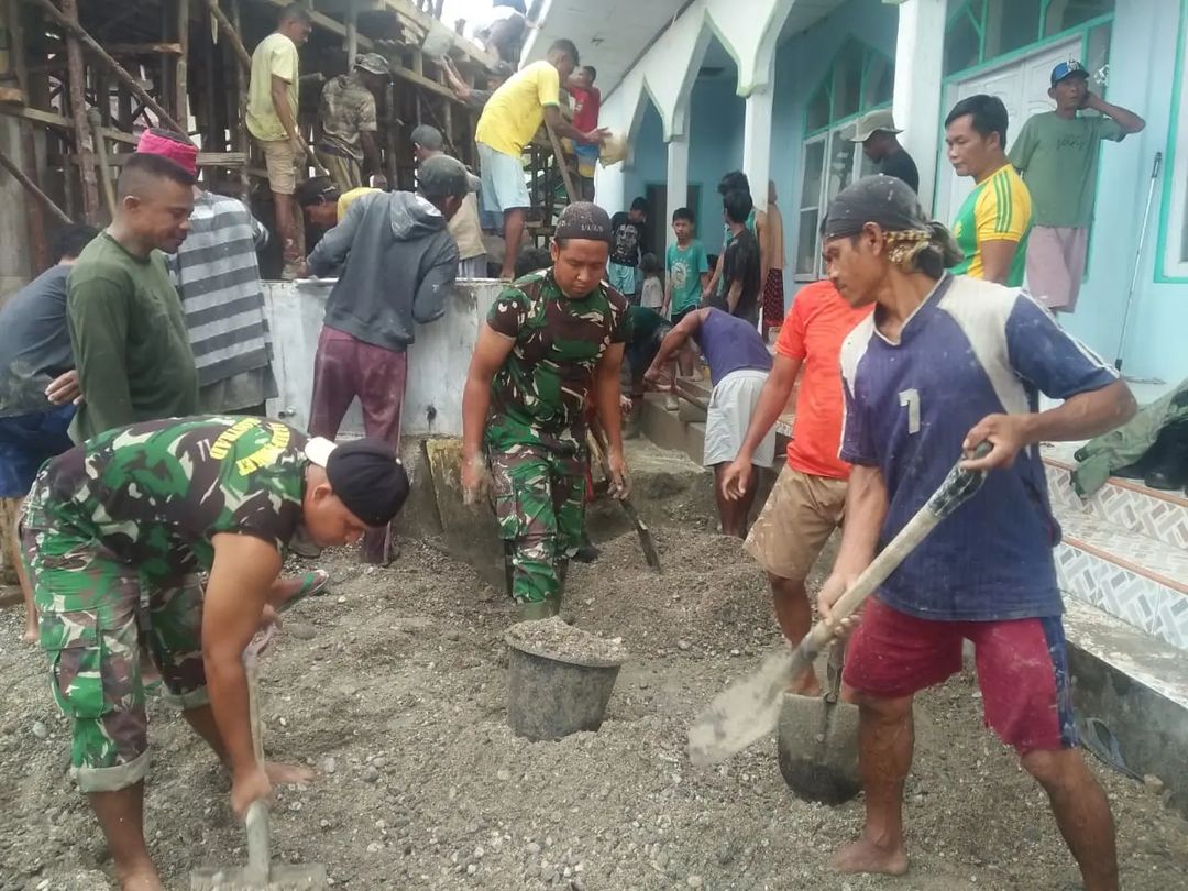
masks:
[[[197,148],[185,137],[148,131],[138,150],[165,154],[197,173]],[[255,255],[266,240],[267,229],[242,202],[194,187],[190,234],[169,266],[182,297],[203,412],[263,416],[265,402],[277,396]]]

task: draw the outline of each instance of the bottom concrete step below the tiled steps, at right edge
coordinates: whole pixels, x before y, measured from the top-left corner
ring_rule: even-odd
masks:
[[[1167,803],[1188,816],[1188,658],[1130,624],[1066,600],[1073,702],[1085,721],[1101,720],[1126,765],[1165,785]]]

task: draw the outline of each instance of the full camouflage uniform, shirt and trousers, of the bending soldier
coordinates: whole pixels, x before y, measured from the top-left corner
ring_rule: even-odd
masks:
[[[147,772],[141,653],[176,704],[207,703],[197,573],[222,532],[287,544],[305,442],[263,418],[175,418],[102,434],[42,468],[23,508],[23,558],[83,791]]]

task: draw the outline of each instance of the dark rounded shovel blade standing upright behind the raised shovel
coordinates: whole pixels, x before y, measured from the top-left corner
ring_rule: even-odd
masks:
[[[779,772],[797,798],[843,804],[862,788],[858,706],[785,694],[776,747]]]

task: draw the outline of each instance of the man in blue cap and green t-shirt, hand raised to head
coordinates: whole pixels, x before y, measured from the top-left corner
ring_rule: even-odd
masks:
[[[1081,290],[1093,222],[1101,140],[1120,143],[1146,121],[1089,90],[1076,59],[1051,70],[1056,109],[1028,118],[1009,158],[1031,191],[1035,228],[1028,247],[1028,289],[1048,309],[1072,312]],[[1082,115],[1083,109],[1099,114]]]

